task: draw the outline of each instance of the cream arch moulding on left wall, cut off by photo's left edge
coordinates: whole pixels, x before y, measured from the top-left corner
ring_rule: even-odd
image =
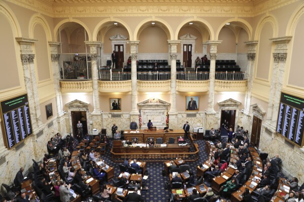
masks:
[[[0,14],[3,14],[10,22],[14,36],[21,37],[21,28],[14,12],[3,2],[0,2]]]

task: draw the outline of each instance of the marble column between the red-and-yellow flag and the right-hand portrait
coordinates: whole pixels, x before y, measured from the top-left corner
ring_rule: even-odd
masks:
[[[171,47],[170,58],[171,58],[171,94],[170,94],[170,114],[177,114],[176,109],[176,59],[177,59],[177,46],[180,44],[180,40],[168,40],[168,44]]]

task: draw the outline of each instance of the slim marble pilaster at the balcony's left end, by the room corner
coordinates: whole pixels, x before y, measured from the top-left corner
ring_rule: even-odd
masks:
[[[62,95],[60,91],[60,65],[59,65],[59,51],[58,48],[60,46],[59,42],[49,42],[50,52],[51,52],[51,59],[52,59],[52,69],[53,69],[53,81],[54,81],[54,88],[55,88],[55,100],[56,100],[56,111],[57,111],[57,124],[58,124],[58,131],[61,134],[66,133],[65,128],[65,120],[64,120],[64,112],[63,112],[63,105],[62,105]]]

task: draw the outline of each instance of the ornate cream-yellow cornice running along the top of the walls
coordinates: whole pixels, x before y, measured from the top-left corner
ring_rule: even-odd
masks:
[[[226,16],[254,17],[297,0],[11,0],[51,17]]]

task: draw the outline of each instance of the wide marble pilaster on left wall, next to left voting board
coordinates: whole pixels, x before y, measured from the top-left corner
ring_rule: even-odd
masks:
[[[16,41],[20,45],[24,84],[30,108],[32,131],[33,134],[36,134],[40,131],[39,127],[43,127],[34,64],[35,54],[33,54],[33,46],[38,39],[17,37]]]

